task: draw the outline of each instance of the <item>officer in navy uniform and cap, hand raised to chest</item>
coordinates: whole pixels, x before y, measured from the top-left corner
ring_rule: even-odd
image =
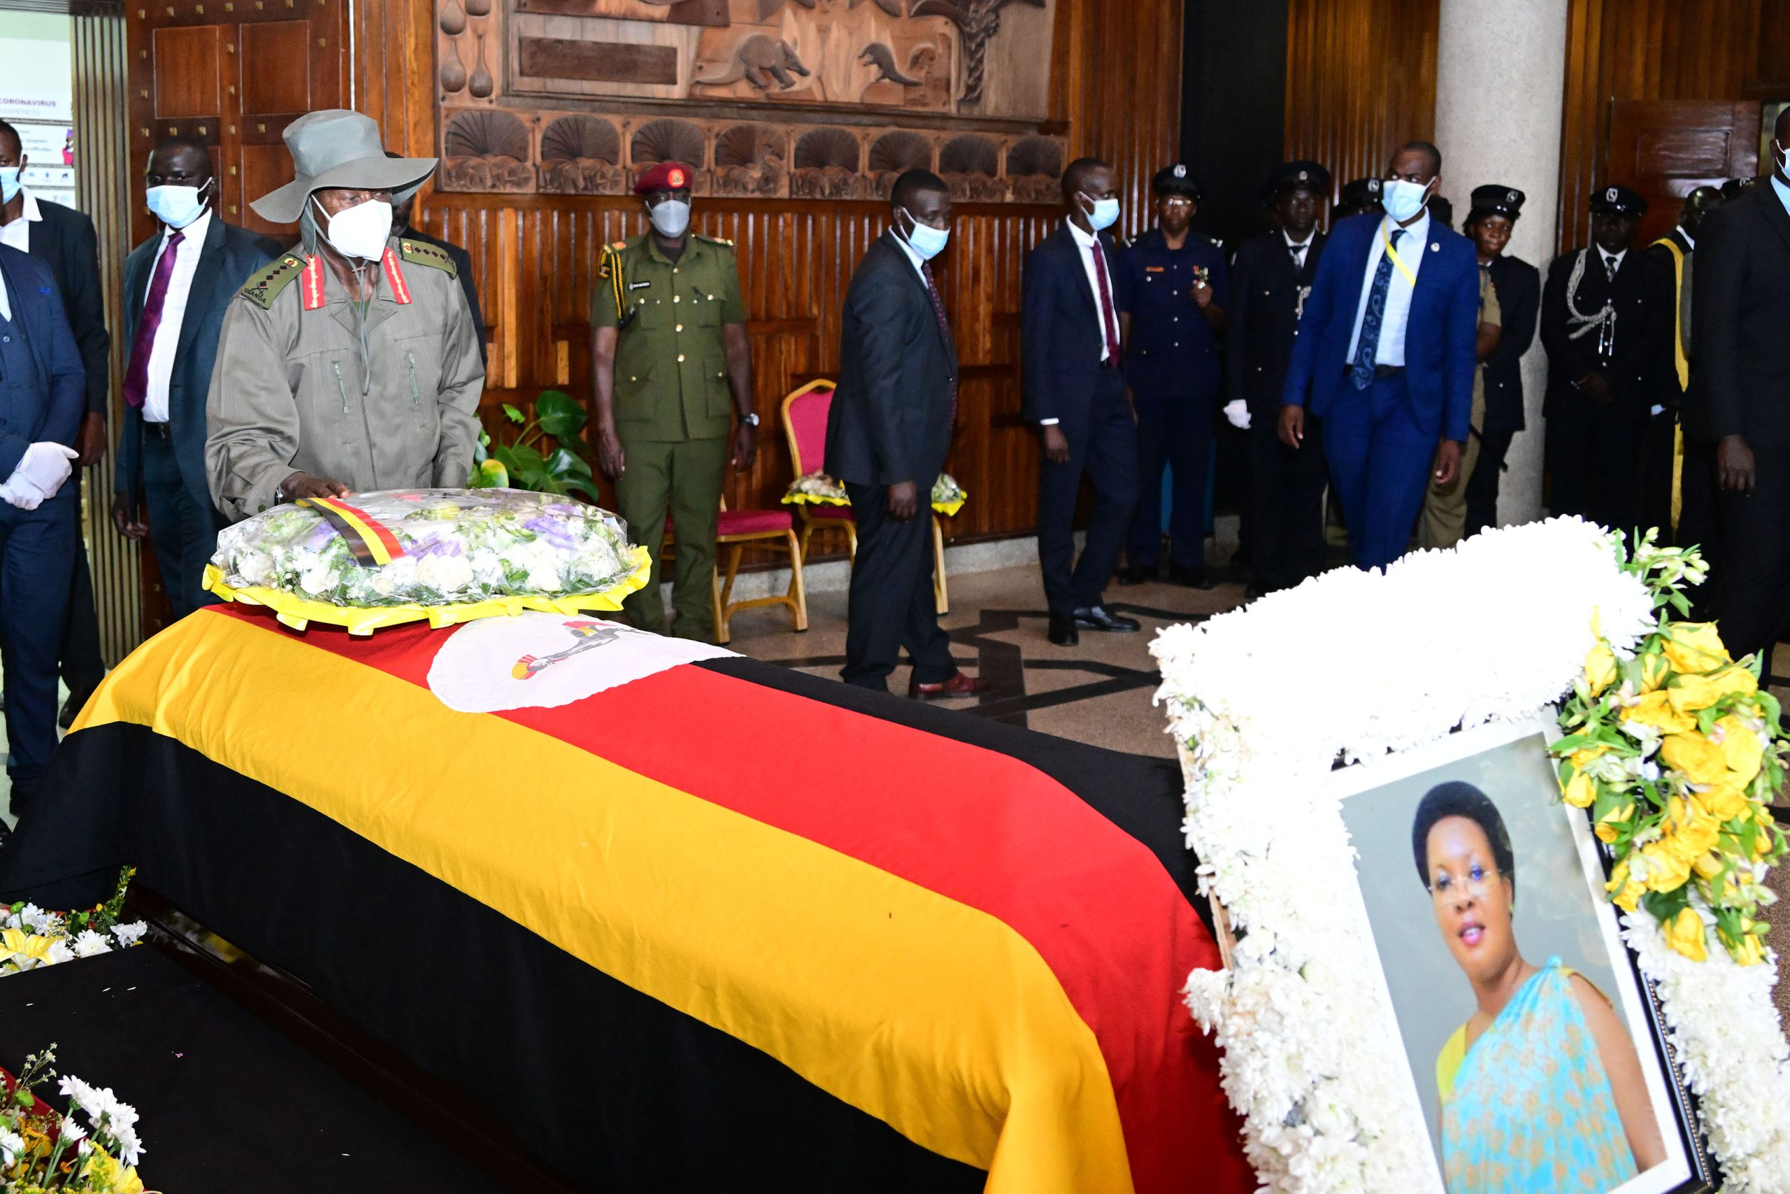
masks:
[[[1187,166],[1151,179],[1156,227],[1121,258],[1119,310],[1126,380],[1137,410],[1138,498],[1121,584],[1156,576],[1162,553],[1162,469],[1174,469],[1169,580],[1210,589],[1205,575],[1206,476],[1223,388],[1217,333],[1230,303],[1224,254],[1189,231],[1199,186]]]

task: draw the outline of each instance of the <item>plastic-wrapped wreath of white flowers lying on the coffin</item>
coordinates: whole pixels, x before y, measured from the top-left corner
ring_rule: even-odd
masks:
[[[233,591],[378,609],[601,594],[639,555],[619,517],[569,498],[421,489],[276,507],[218,532],[211,564]]]

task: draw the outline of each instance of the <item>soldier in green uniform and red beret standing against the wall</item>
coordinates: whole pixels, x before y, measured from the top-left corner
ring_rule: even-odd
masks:
[[[734,245],[689,231],[689,186],[680,161],[659,163],[634,186],[652,231],[603,249],[591,294],[591,374],[598,464],[616,482],[628,535],[653,557],[652,582],[625,605],[628,619],[664,628],[659,557],[669,510],[671,632],[712,639],[721,478],[729,464],[752,467],[759,417]]]

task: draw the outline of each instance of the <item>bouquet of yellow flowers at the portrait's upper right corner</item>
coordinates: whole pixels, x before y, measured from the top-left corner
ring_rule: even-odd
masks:
[[[1649,535],[1624,567],[1654,594],[1654,630],[1618,652],[1593,618],[1595,646],[1561,707],[1552,745],[1561,800],[1586,809],[1611,863],[1606,891],[1645,908],[1679,954],[1704,961],[1713,942],[1738,965],[1765,961],[1763,868],[1785,854],[1770,814],[1785,788],[1790,738],[1760,662],[1735,661],[1688,610],[1681,578],[1702,575],[1695,550]]]

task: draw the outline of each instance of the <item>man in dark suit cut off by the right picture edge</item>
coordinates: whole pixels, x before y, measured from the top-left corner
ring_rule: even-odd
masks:
[[[1697,236],[1697,367],[1686,422],[1715,442],[1722,559],[1715,603],[1738,659],[1790,621],[1790,109],[1772,175],[1704,220]]]

